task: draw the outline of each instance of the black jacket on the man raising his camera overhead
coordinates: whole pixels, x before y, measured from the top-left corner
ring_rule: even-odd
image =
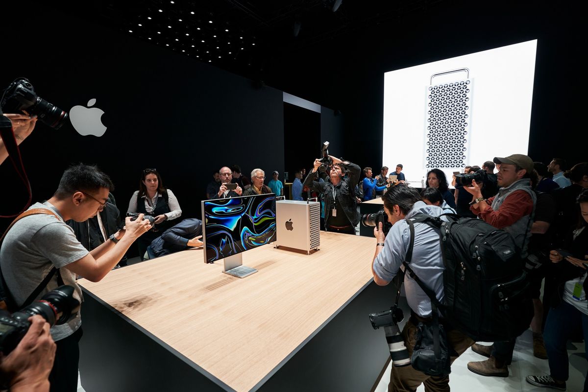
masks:
[[[359,181],[359,175],[361,173],[360,167],[355,163],[348,162],[347,165],[343,164],[345,169],[349,170],[349,177],[341,180],[337,186],[335,186],[335,197],[337,198],[337,205],[345,212],[345,216],[351,222],[351,225],[357,226],[359,223],[359,212],[357,209],[357,200],[355,199],[355,186]],[[317,170],[318,172],[318,170]],[[325,182],[318,182],[316,180],[317,172],[312,171],[308,173],[304,180],[304,185],[310,189],[322,195],[322,199],[325,202],[325,225],[328,225],[330,213],[333,204],[333,184],[330,180]]]

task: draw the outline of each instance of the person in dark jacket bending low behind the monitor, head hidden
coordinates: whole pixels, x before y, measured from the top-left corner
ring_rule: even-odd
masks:
[[[200,219],[184,219],[168,230],[161,237],[153,240],[147,247],[149,259],[165,256],[191,247],[202,246],[202,221]]]

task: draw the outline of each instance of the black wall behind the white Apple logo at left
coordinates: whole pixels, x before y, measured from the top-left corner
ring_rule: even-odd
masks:
[[[125,213],[142,169],[154,167],[178,197],[182,218],[194,217],[214,169],[236,163],[248,176],[253,167],[284,171],[281,91],[36,6],[26,21],[9,17],[22,15],[15,4],[2,6],[2,88],[26,76],[39,96],[65,110],[95,98],[108,129],[98,138],[79,135],[69,122],[59,130],[37,125],[21,145],[34,201],[51,197],[71,163],[94,163],[112,177]],[[11,172],[6,161],[0,215],[25,202],[18,190],[6,192],[15,188]],[[0,228],[8,223],[0,219]]]

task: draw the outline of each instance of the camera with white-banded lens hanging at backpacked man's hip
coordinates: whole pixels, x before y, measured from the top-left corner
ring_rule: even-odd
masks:
[[[396,367],[410,365],[408,350],[398,327],[398,323],[404,320],[402,309],[395,305],[390,307],[390,310],[370,314],[369,320],[372,322],[373,329],[384,327],[392,364]]]

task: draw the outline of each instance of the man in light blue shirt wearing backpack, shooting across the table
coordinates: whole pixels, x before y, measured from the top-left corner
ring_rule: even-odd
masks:
[[[380,286],[386,286],[399,272],[402,262],[406,258],[406,252],[410,246],[410,228],[405,221],[417,213],[426,213],[431,216],[440,216],[443,210],[437,206],[427,206],[422,202],[416,189],[406,185],[397,185],[390,188],[382,197],[384,210],[388,222],[392,228],[387,235],[383,232],[382,223],[373,231],[377,239],[376,253],[372,262],[373,280]],[[445,217],[442,217],[445,220]],[[439,301],[443,300],[443,257],[439,243],[439,232],[426,223],[415,223],[415,246],[413,247],[412,262],[410,263],[415,274],[435,292]],[[412,356],[416,342],[416,326],[420,322],[432,321],[431,301],[427,294],[413,280],[409,274],[404,279],[406,299],[408,301],[410,318],[402,330],[408,356]],[[461,355],[473,341],[458,330],[453,330],[443,319],[447,333],[447,343]],[[457,357],[451,357],[455,361]],[[415,391],[420,384],[425,383],[425,390],[449,390],[449,377],[427,376],[412,366],[392,366],[390,374],[389,390]]]

